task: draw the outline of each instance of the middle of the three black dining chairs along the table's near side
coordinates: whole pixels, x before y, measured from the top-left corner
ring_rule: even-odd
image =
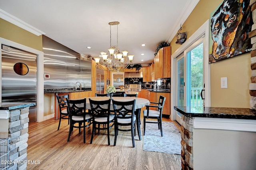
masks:
[[[91,100],[91,112],[92,112],[92,137],[91,142],[93,141],[93,136],[96,134],[96,129],[98,129],[98,134],[100,130],[107,130],[108,132],[108,145],[110,145],[110,132],[109,129],[114,126],[114,114],[110,113],[110,103],[111,100],[96,101]]]

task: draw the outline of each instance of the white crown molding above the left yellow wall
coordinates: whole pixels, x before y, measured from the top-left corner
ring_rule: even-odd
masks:
[[[20,20],[19,18],[12,16],[8,12],[2,10],[0,8],[0,18],[13,23],[14,25],[21,27],[22,29],[25,29],[26,31],[29,31],[30,33],[33,33],[37,36],[45,34],[43,31],[40,31],[39,29],[33,27],[32,25],[29,25],[28,23]]]

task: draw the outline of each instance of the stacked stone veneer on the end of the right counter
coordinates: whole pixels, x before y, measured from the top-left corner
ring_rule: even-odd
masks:
[[[182,170],[193,170],[193,118],[182,115],[180,123]]]

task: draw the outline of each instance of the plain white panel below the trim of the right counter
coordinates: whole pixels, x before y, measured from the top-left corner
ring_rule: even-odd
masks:
[[[256,132],[194,129],[194,170],[255,170]]]

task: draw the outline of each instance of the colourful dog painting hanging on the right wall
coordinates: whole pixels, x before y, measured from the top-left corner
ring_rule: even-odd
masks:
[[[209,63],[251,51],[248,33],[252,28],[250,0],[224,0],[212,15],[212,53]]]

